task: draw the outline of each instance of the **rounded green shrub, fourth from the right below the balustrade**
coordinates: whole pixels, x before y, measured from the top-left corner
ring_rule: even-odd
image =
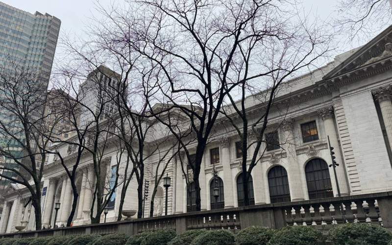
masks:
[[[191,245],[234,245],[234,235],[228,230],[207,231],[198,235]]]

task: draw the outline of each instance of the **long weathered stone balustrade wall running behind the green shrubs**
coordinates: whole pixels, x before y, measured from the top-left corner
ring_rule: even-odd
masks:
[[[391,209],[392,192],[383,192],[8,233],[1,234],[0,238],[110,233],[134,235],[167,228],[175,229],[178,234],[191,229],[226,229],[237,232],[251,225],[270,228],[313,225],[327,230],[345,222],[374,223],[392,229]]]

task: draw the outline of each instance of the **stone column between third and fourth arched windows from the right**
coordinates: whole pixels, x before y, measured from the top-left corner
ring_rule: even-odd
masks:
[[[231,183],[234,181],[231,177],[230,168],[230,139],[221,139],[221,164],[223,166],[223,192],[224,192],[224,207],[234,207],[234,196]]]

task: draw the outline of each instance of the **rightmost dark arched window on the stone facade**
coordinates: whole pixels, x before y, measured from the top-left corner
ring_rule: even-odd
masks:
[[[320,159],[310,160],[305,166],[306,183],[309,199],[333,197],[328,164]]]

